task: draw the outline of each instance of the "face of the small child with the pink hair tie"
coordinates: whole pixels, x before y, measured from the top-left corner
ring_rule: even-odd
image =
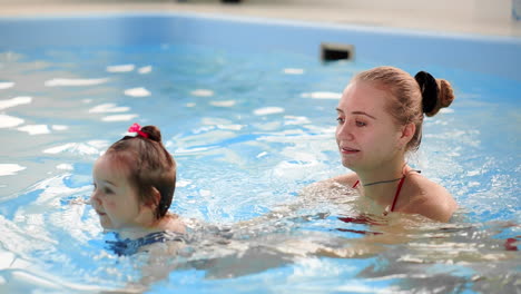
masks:
[[[141,226],[142,205],[127,178],[125,165],[110,156],[101,156],[95,164],[95,189],[91,204],[101,226],[109,229]]]

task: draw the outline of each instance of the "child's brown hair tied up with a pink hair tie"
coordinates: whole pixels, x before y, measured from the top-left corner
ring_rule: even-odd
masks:
[[[125,136],[112,144],[106,155],[127,167],[139,202],[156,205],[156,219],[165,216],[176,189],[176,161],[163,146],[160,130],[155,126],[142,127],[137,136]],[[160,194],[159,203],[151,197],[153,188]]]

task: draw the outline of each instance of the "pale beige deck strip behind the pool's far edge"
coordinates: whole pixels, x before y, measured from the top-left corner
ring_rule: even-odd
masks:
[[[283,3],[281,3],[283,2]],[[265,18],[276,20],[297,20],[320,23],[342,23],[368,27],[413,29],[434,32],[470,33],[484,36],[505,36],[521,38],[521,21],[499,20],[458,16],[456,13],[384,10],[384,9],[347,9],[318,4],[288,4],[275,2],[244,2],[223,4],[216,2],[187,1],[67,1],[51,0],[45,4],[36,0],[0,1],[0,17],[45,17],[112,12],[189,12],[218,14],[243,18]]]

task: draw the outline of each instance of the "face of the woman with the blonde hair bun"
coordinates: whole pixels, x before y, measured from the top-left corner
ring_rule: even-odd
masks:
[[[403,156],[402,128],[386,108],[391,98],[366,81],[355,81],[345,88],[336,108],[336,143],[345,167],[354,171],[374,169]]]

